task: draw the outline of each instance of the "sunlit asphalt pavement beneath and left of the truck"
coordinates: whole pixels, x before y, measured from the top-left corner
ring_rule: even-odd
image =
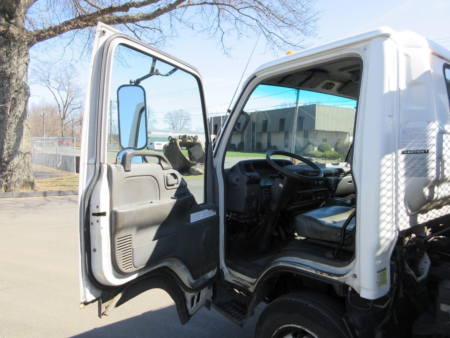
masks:
[[[200,309],[180,324],[162,290],[150,290],[99,319],[79,309],[78,196],[0,199],[0,337],[253,337],[261,309],[244,325]]]

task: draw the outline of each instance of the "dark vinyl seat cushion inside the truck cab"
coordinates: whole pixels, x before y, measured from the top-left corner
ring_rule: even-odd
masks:
[[[342,226],[354,210],[354,208],[348,206],[324,206],[298,214],[294,218],[297,235],[339,243]],[[355,228],[355,217],[347,225],[345,244],[353,242],[353,228]]]

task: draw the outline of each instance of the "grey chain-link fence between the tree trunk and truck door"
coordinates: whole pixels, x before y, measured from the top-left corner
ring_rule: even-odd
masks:
[[[31,137],[35,179],[75,174],[75,137]]]

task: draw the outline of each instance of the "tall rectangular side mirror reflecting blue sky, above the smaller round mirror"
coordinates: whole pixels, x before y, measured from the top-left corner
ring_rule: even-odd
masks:
[[[147,104],[145,90],[139,85],[122,85],[117,89],[119,142],[122,148],[147,146]]]

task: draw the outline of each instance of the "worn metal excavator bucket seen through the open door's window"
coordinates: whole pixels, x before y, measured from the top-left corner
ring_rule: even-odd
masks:
[[[205,150],[198,136],[180,135],[179,137],[168,137],[169,143],[164,148],[164,156],[169,160],[173,169],[180,174],[201,175],[204,173]],[[181,148],[186,148],[186,157]]]

